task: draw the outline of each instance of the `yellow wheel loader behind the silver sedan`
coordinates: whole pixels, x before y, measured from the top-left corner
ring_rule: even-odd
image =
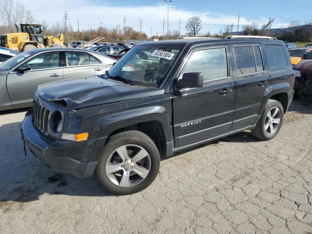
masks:
[[[0,36],[0,46],[24,52],[36,48],[44,47],[64,47],[64,37],[60,33],[57,36],[42,36],[43,27],[41,24],[24,23],[19,28],[16,25],[17,32],[12,32]]]

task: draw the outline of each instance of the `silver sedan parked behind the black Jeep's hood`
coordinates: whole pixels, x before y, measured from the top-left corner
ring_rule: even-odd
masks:
[[[32,106],[39,84],[101,75],[116,61],[97,52],[75,48],[21,53],[0,64],[0,111]]]

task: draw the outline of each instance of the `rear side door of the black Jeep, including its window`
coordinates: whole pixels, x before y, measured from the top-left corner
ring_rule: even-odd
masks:
[[[254,125],[260,115],[265,90],[271,86],[260,44],[232,44],[236,89],[231,133]]]

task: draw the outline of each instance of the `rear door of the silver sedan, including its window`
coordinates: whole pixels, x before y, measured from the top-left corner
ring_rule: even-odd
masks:
[[[65,65],[64,65],[64,79],[70,78],[86,78],[97,75],[96,68],[101,69],[101,67],[96,67],[94,63],[98,61],[95,60],[93,56],[84,52],[76,51],[65,51]],[[98,72],[100,72],[99,70]]]

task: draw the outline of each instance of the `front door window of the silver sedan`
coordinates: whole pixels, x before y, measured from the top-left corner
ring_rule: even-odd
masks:
[[[39,55],[26,63],[31,70],[59,67],[59,52]]]

